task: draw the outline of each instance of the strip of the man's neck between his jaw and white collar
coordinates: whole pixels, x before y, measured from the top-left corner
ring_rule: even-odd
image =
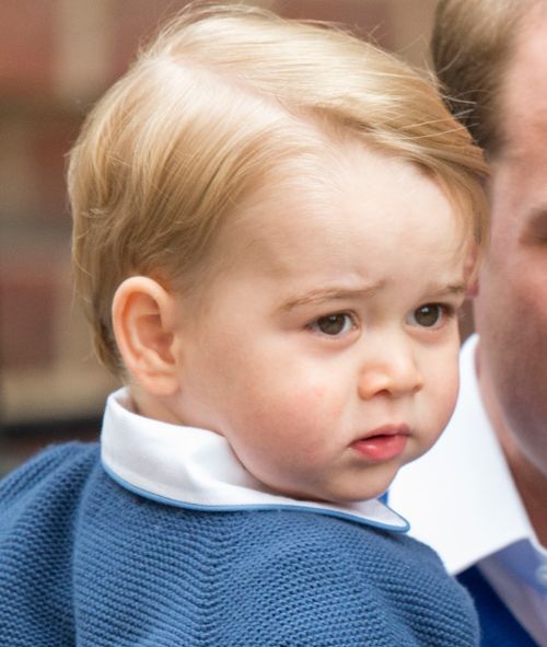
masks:
[[[545,513],[547,474],[542,472],[522,451],[515,432],[510,428],[494,395],[488,371],[481,370],[478,361],[476,362],[476,370],[485,409],[505,455],[516,489],[521,495],[539,543],[547,547],[547,515]]]

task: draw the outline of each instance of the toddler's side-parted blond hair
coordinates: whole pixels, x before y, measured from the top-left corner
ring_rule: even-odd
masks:
[[[118,285],[194,277],[226,213],[282,160],[313,152],[312,123],[315,139],[338,129],[418,164],[481,239],[482,157],[431,82],[333,26],[188,9],[98,102],[70,155],[75,284],[104,365],[121,370]]]

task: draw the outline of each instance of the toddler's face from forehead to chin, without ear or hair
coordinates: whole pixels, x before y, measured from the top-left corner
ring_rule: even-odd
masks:
[[[407,162],[365,150],[271,183],[230,220],[221,270],[181,300],[176,416],[290,496],[379,496],[457,391],[456,217]]]

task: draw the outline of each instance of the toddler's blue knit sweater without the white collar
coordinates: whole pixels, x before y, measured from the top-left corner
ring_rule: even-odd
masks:
[[[154,502],[80,443],[0,484],[0,599],[9,647],[478,645],[424,545],[313,512]]]

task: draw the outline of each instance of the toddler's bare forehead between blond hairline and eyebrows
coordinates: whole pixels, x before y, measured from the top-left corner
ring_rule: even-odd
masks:
[[[284,174],[226,219],[206,267],[216,298],[226,282],[236,293],[238,284],[254,286],[257,299],[266,287],[283,296],[373,285],[385,299],[400,285],[464,282],[469,247],[440,187],[411,163],[377,154],[347,162]]]

